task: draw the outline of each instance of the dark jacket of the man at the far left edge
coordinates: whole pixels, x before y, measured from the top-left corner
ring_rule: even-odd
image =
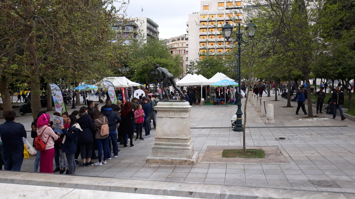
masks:
[[[24,149],[22,137],[27,137],[24,126],[14,121],[5,121],[0,125],[0,137],[4,160],[21,160]]]

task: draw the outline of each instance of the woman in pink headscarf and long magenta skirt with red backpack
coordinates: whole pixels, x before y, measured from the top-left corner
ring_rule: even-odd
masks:
[[[46,144],[46,148],[40,152],[41,161],[39,162],[39,172],[53,174],[53,159],[54,159],[54,141],[58,140],[60,133],[55,133],[48,126],[49,114],[42,114],[37,120],[37,135]]]

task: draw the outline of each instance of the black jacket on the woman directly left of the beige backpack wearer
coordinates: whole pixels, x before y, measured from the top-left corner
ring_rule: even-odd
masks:
[[[83,131],[79,132],[78,142],[93,142],[93,129],[94,129],[94,122],[89,114],[79,114],[80,118],[76,120]]]

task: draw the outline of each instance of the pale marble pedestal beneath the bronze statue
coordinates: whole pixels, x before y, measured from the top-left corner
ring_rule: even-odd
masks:
[[[198,152],[191,141],[191,107],[185,100],[162,100],[154,107],[155,142],[152,154],[146,158],[147,164],[196,164]]]

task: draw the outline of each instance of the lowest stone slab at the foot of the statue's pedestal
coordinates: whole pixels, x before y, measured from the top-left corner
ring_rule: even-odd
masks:
[[[147,164],[178,164],[178,165],[195,165],[198,159],[198,152],[193,153],[189,158],[171,158],[171,157],[152,157],[146,158]]]

